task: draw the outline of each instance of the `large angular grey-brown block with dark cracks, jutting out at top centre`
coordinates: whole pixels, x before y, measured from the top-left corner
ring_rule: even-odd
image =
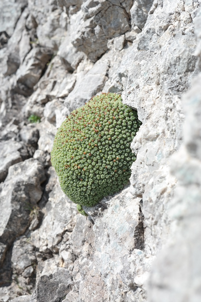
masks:
[[[119,1],[84,2],[70,19],[71,43],[95,62],[106,52],[108,39],[130,30],[128,21],[128,13]]]

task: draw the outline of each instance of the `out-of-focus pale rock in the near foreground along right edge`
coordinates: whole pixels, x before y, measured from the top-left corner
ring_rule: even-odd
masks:
[[[200,11],[201,12],[201,11]],[[200,26],[201,13],[195,18]],[[200,54],[200,31],[197,53]],[[176,234],[162,250],[152,268],[149,301],[199,301],[200,295],[200,92],[201,73],[193,79],[192,88],[182,98],[185,123],[183,144],[174,154],[171,173],[178,182],[171,207],[177,221]],[[191,194],[189,195],[189,192]],[[162,265],[165,263],[165,265]],[[175,269],[179,268],[179,269]]]

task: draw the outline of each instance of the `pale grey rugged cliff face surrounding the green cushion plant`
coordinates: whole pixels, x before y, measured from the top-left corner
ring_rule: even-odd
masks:
[[[200,301],[200,4],[0,3],[1,302]],[[138,111],[137,160],[86,219],[49,153],[108,91]]]

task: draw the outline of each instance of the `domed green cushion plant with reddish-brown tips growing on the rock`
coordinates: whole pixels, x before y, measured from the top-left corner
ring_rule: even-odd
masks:
[[[130,144],[141,124],[137,111],[115,93],[93,97],[66,118],[56,133],[51,162],[74,203],[91,207],[123,189],[136,160]]]

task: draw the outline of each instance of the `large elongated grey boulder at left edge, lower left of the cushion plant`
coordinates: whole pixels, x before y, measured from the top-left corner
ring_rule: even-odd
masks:
[[[40,184],[45,178],[42,165],[32,158],[8,169],[8,176],[0,193],[2,242],[10,244],[29,226],[29,214],[42,196]]]

